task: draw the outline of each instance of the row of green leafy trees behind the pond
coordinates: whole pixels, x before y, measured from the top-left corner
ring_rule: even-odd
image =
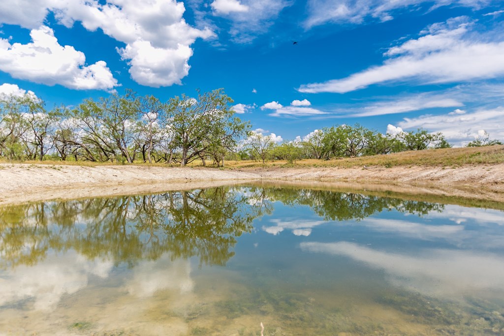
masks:
[[[0,96],[0,158],[223,166],[233,160],[330,160],[447,148],[441,133],[424,129],[382,134],[359,124],[316,130],[303,140],[275,143],[235,115],[223,89],[161,102],[131,90],[76,107],[45,109],[34,95]],[[483,146],[487,139],[471,143]]]

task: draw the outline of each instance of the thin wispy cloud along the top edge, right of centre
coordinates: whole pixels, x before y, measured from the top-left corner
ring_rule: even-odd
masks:
[[[441,6],[461,6],[480,9],[492,3],[492,0],[309,0],[308,18],[303,23],[305,28],[323,25],[326,23],[352,23],[362,24],[366,19],[377,19],[381,22],[394,19],[393,12],[408,7],[418,6],[425,3],[433,5],[430,10]],[[428,10],[429,7],[425,9]]]

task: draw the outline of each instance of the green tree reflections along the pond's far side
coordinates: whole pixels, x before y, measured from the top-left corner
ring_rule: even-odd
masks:
[[[225,265],[236,237],[254,219],[273,212],[273,202],[306,205],[326,220],[360,220],[395,209],[418,215],[442,211],[423,201],[329,190],[217,187],[155,195],[50,201],[0,209],[0,267],[33,265],[49,250],[74,249],[90,259],[134,266],[198,257],[200,265]]]

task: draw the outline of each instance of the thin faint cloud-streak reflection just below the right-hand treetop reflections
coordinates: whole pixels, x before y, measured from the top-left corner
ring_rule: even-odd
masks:
[[[362,225],[381,232],[394,232],[396,234],[417,239],[450,238],[454,234],[464,231],[459,225],[426,225],[407,221],[366,218],[362,220]]]

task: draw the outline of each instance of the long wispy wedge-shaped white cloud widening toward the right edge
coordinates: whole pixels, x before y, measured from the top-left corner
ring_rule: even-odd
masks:
[[[488,42],[469,34],[465,18],[434,24],[422,31],[424,36],[390,48],[383,65],[347,78],[302,85],[306,93],[345,93],[369,85],[415,80],[423,84],[452,83],[497,78],[504,74],[504,42]]]

